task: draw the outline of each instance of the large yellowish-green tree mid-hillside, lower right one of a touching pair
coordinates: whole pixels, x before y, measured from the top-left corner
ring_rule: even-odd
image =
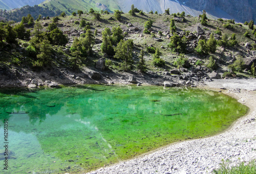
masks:
[[[132,69],[133,64],[133,40],[129,39],[126,41],[121,40],[115,49],[114,58],[121,59],[121,69],[128,70]]]

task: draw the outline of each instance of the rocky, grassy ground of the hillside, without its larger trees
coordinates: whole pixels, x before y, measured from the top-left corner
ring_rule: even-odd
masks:
[[[254,51],[254,36],[249,34],[250,38],[244,36],[248,26],[229,23],[229,28],[224,28],[228,22],[209,20],[207,26],[200,24],[198,17],[185,17],[185,22],[175,22],[177,26],[176,34],[186,39],[186,53],[189,66],[179,68],[176,62],[180,54],[174,52],[173,48],[168,47],[170,39],[174,36],[170,33],[170,15],[144,14],[131,16],[122,14],[121,19],[115,20],[113,14],[102,15],[99,20],[94,19],[92,14],[83,14],[79,16],[60,17],[58,28],[68,35],[69,42],[66,46],[52,46],[51,63],[41,69],[35,69],[32,62],[36,61],[36,56],[29,56],[27,47],[30,44],[25,40],[18,40],[18,44],[8,44],[2,48],[1,67],[0,67],[0,85],[1,86],[28,86],[28,85],[47,85],[56,86],[56,84],[84,84],[84,83],[143,83],[165,86],[196,86],[210,79],[220,79],[224,72],[227,72],[228,65],[233,64],[239,56],[242,56],[245,66],[242,72],[236,72],[236,77],[252,78],[250,69],[254,62],[256,64],[256,52]],[[153,26],[150,29],[151,34],[144,34],[144,23],[151,19]],[[78,63],[79,68],[73,68],[73,56],[70,48],[76,37],[84,33],[84,29],[79,27],[81,20],[86,20],[90,24],[93,32],[97,29],[93,54],[84,58],[84,61]],[[43,27],[42,31],[48,31],[52,19],[39,20]],[[101,52],[102,31],[104,28],[120,27],[123,31],[124,40],[132,39],[133,65],[131,70],[123,71],[120,69],[119,59],[108,56]],[[236,34],[238,44],[236,46],[218,46],[215,53],[198,54],[195,48],[199,40],[209,40],[210,34],[220,28],[222,36],[227,35],[228,40],[232,34]],[[33,27],[32,29],[33,32]],[[33,34],[32,34],[33,36]],[[221,40],[218,34],[214,34],[217,40]],[[144,47],[144,48],[143,48]],[[154,47],[159,49],[160,58],[165,65],[156,66],[153,64],[154,54],[145,49]],[[146,72],[142,73],[137,68],[141,49],[144,49],[144,60]],[[40,52],[39,52],[40,53]],[[37,53],[37,54],[39,54]],[[217,64],[216,70],[208,67],[209,57],[212,56]],[[103,58],[103,59],[101,59]],[[105,61],[108,62],[104,63]],[[97,66],[96,66],[97,65]],[[233,76],[235,76],[233,74]],[[225,76],[223,76],[225,77]]]

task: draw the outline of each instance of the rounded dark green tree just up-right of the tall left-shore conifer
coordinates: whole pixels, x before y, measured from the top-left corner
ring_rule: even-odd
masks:
[[[48,40],[53,45],[65,46],[68,43],[68,36],[64,35],[58,28],[54,29],[49,33]]]

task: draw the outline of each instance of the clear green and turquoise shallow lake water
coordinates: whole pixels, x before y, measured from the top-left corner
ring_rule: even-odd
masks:
[[[86,172],[175,141],[217,134],[247,111],[222,93],[190,88],[0,90],[0,142],[8,119],[11,152],[4,173]],[[3,153],[1,166],[2,158]]]

